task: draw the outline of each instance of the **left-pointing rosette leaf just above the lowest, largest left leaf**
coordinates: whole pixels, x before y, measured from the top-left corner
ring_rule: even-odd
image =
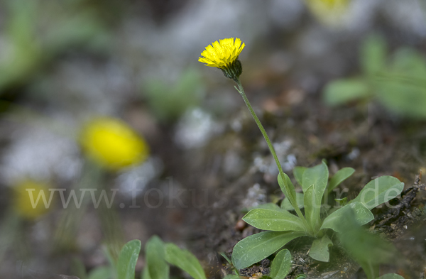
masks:
[[[284,209],[252,209],[243,220],[268,231],[306,231],[302,220]]]

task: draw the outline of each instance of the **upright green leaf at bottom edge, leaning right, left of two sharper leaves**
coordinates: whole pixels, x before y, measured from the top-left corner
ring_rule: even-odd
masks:
[[[129,241],[124,245],[117,261],[117,273],[119,279],[134,279],[136,261],[141,251],[141,241],[138,239]]]

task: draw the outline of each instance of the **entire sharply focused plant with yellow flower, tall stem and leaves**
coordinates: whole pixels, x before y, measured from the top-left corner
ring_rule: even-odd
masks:
[[[354,173],[354,169],[343,168],[329,180],[329,171],[323,161],[313,168],[295,168],[295,178],[303,191],[303,194],[296,193],[290,178],[283,172],[271,140],[251,107],[239,80],[242,73],[239,54],[244,46],[239,38],[219,40],[205,48],[201,53],[203,58],[199,58],[199,61],[209,67],[218,67],[225,77],[236,82],[236,90],[243,97],[275,159],[279,170],[278,184],[285,199],[280,206],[263,204],[261,208],[251,209],[244,216],[244,221],[265,231],[239,241],[232,253],[232,263],[237,269],[246,268],[271,256],[289,241],[300,236],[310,236],[312,239],[309,253],[312,258],[317,261],[329,261],[329,246],[333,244],[329,236],[332,231],[344,234],[345,229],[350,227],[346,226],[348,218],[359,226],[368,223],[374,218],[370,210],[398,196],[404,184],[395,177],[378,177],[369,182],[358,197],[349,202],[339,200],[343,206],[332,209],[326,206],[324,201],[327,201],[329,193],[335,187]],[[304,214],[301,209],[304,209]]]

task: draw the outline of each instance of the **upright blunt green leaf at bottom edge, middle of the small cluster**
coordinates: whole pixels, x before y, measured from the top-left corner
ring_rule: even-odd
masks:
[[[158,236],[152,236],[145,244],[146,270],[151,279],[169,278],[169,266],[165,262],[164,243]]]

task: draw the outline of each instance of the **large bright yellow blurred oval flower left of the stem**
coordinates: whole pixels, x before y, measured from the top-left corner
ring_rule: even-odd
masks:
[[[97,118],[84,126],[80,138],[84,153],[99,165],[119,170],[148,158],[146,141],[123,121]]]

